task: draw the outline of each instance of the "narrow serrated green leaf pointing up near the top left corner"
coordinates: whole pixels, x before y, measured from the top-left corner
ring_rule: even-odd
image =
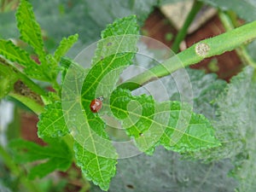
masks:
[[[45,52],[41,28],[36,21],[32,11],[32,4],[26,0],[21,0],[16,12],[16,20],[20,30],[20,39],[30,44],[38,54],[39,60],[44,62]]]

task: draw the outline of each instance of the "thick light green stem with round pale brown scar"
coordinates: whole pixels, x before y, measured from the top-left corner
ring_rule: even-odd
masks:
[[[256,20],[216,37],[204,39],[192,45],[189,49],[185,49],[177,55],[172,56],[160,65],[152,67],[132,79],[128,79],[125,83],[120,84],[119,88],[136,90],[140,86],[154,79],[169,75],[179,68],[188,67],[205,58],[213,55],[221,55],[226,51],[236,49],[238,46],[250,42],[254,38],[256,38]],[[204,54],[196,53],[195,50],[202,45],[207,45],[207,51]]]

